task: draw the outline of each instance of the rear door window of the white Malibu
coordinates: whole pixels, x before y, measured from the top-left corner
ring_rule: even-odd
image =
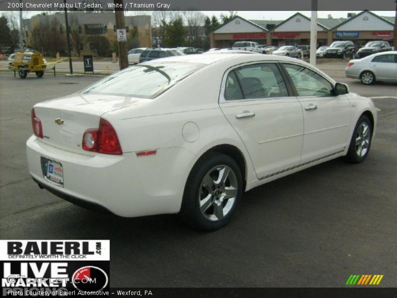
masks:
[[[273,63],[236,68],[226,79],[226,100],[281,96],[288,96],[288,92],[280,72]]]

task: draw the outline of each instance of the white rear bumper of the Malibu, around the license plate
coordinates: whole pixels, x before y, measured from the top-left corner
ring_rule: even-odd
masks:
[[[76,205],[122,217],[178,213],[193,154],[182,148],[155,155],[83,155],[58,149],[32,136],[26,143],[29,172],[43,188]],[[60,162],[64,185],[43,176],[41,157]],[[181,161],[184,162],[181,162]]]

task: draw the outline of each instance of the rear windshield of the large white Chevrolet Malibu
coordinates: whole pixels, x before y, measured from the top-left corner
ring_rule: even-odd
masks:
[[[204,67],[200,63],[149,62],[111,74],[80,91],[82,94],[155,98]]]

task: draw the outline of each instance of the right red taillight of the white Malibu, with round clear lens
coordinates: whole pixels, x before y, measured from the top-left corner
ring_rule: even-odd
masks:
[[[83,135],[83,149],[104,154],[123,154],[119,138],[113,126],[102,119],[98,129],[87,129]]]

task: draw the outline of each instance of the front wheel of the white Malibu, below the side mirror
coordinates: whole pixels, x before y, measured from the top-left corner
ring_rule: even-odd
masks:
[[[346,154],[346,160],[351,163],[362,162],[367,157],[371,147],[372,125],[368,117],[361,115],[354,128],[351,137],[349,149]]]

